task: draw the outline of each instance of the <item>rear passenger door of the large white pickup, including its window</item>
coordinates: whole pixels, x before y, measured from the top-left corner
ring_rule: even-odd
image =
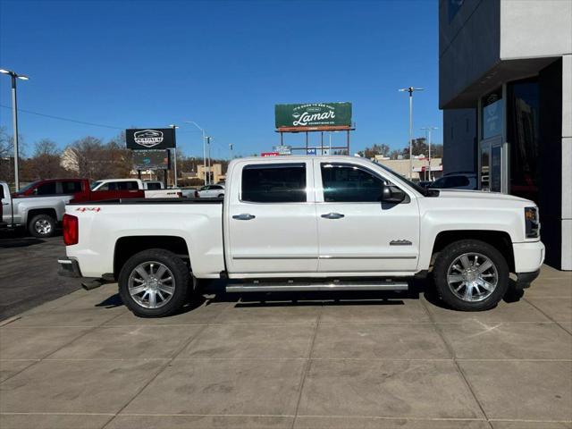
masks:
[[[313,165],[310,161],[239,164],[227,194],[229,272],[315,273],[318,265]],[[234,189],[234,188],[233,188]]]

